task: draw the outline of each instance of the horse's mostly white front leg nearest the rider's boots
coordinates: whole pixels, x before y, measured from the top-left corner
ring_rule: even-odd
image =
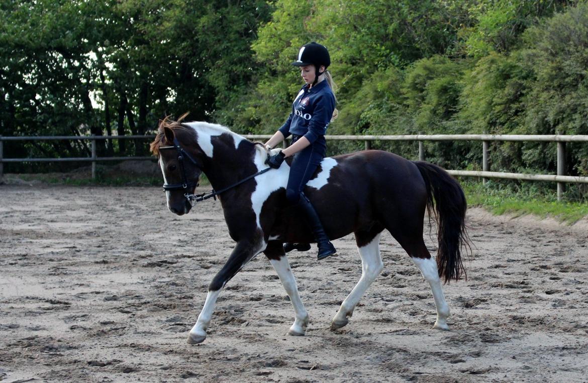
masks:
[[[294,324],[288,330],[288,335],[305,335],[306,326],[308,326],[308,312],[306,312],[304,304],[302,304],[302,299],[300,299],[300,295],[298,294],[296,279],[294,278],[294,274],[292,274],[292,269],[290,269],[290,263],[284,253],[282,243],[276,241],[269,242],[268,247],[265,249],[265,255],[269,258],[269,262],[278,274],[294,308]]]

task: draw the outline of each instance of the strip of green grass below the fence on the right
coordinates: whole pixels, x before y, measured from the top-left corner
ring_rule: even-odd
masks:
[[[469,206],[483,207],[493,214],[515,216],[533,214],[540,218],[551,217],[566,224],[574,224],[588,217],[588,202],[557,201],[556,192],[546,195],[532,186],[505,185],[500,182],[466,180],[461,182]]]

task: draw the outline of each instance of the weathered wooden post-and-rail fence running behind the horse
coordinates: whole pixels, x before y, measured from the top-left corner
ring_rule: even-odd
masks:
[[[248,139],[269,139],[268,134],[244,135]],[[154,160],[152,156],[137,157],[98,157],[96,155],[96,140],[100,139],[153,139],[155,135],[131,135],[131,136],[0,136],[0,179],[4,175],[3,164],[9,162],[92,162],[92,177],[96,177],[96,162],[98,161],[125,161]],[[363,141],[365,148],[370,149],[372,141],[417,141],[419,142],[419,159],[425,161],[425,141],[482,141],[482,169],[483,171],[448,170],[449,174],[456,176],[487,178],[519,179],[524,181],[550,181],[557,182],[557,199],[561,200],[565,183],[588,184],[588,177],[565,175],[566,142],[588,142],[588,135],[505,135],[505,134],[413,134],[413,135],[326,135],[326,139],[334,141]],[[92,154],[82,158],[3,158],[4,141],[49,141],[49,140],[89,140],[92,142]],[[556,142],[557,143],[557,174],[525,174],[491,172],[489,164],[489,142],[492,141],[518,141],[518,142]]]

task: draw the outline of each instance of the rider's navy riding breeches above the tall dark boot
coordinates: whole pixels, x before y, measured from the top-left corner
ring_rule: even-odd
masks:
[[[293,136],[292,144],[300,136]],[[306,182],[315,174],[320,161],[325,158],[326,145],[321,141],[314,142],[294,155],[290,165],[290,176],[286,187],[286,198],[290,204],[296,204],[300,199],[300,192],[304,190]]]

